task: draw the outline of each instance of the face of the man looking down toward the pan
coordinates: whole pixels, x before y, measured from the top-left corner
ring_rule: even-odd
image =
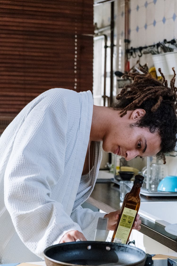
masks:
[[[161,137],[148,128],[130,126],[131,120],[114,124],[103,139],[103,149],[129,161],[136,156],[154,156],[161,150]]]

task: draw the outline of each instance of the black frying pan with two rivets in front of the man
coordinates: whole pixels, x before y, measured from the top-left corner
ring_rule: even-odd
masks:
[[[68,242],[44,250],[47,266],[144,266],[146,253],[126,244],[98,241]]]

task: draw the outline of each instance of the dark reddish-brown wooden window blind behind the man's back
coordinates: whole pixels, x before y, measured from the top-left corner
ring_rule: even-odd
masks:
[[[93,1],[0,1],[0,133],[51,88],[93,87]]]

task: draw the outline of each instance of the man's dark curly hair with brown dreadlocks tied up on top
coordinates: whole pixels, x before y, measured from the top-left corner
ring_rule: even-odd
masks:
[[[132,126],[149,128],[151,133],[158,131],[161,136],[161,151],[157,154],[159,159],[166,163],[165,154],[174,151],[177,134],[177,95],[175,87],[175,70],[174,76],[168,87],[161,69],[160,72],[163,80],[158,81],[152,77],[143,68],[140,68],[143,74],[128,73],[123,78],[131,78],[132,84],[126,85],[116,96],[118,100],[113,107],[120,111],[120,117],[123,117],[128,110],[137,108],[144,109],[145,115]]]

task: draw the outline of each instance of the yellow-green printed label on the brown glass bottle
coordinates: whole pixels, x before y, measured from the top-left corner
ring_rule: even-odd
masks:
[[[113,242],[126,244],[136,212],[135,210],[124,208]]]

